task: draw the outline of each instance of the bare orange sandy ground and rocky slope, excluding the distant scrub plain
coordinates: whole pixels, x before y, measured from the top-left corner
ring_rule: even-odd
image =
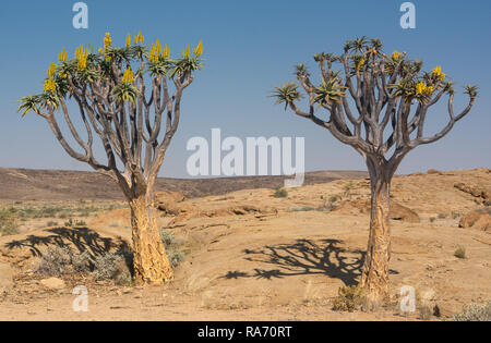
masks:
[[[376,313],[332,310],[339,286],[357,283],[368,240],[369,216],[359,206],[369,199],[368,181],[354,180],[346,192],[348,181],[343,180],[288,189],[286,198],[254,189],[179,203],[184,211],[159,221],[176,234],[187,256],[175,281],[163,286],[77,279],[49,291],[26,272],[33,252],[59,240],[95,253],[129,241],[127,209],[88,219],[84,232],[36,229],[0,237],[0,261],[17,274],[0,296],[0,319],[417,320],[418,311],[399,311],[404,285],[415,287],[418,302],[438,305],[448,318],[465,305],[491,299],[491,234],[458,228],[462,216],[484,205],[454,186],[462,182],[490,188],[491,173],[480,169],[395,177],[393,201],[414,210],[420,222],[391,223],[392,303]],[[325,210],[333,196],[336,208]],[[465,259],[454,256],[459,246]],[[79,284],[88,289],[86,313],[72,309],[72,289]]]

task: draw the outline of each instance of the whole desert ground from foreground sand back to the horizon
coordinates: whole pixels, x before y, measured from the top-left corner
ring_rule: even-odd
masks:
[[[43,188],[46,180],[28,171],[0,171],[11,177],[2,206],[19,216],[19,233],[0,237],[0,320],[445,320],[491,299],[488,168],[394,177],[392,297],[375,313],[332,306],[338,289],[360,275],[369,229],[364,173],[319,172],[282,196],[277,177],[243,181],[242,189],[217,180],[166,188],[161,181],[159,189],[172,192],[156,195],[158,223],[183,258],[171,283],[147,287],[91,273],[53,281],[36,271],[52,246],[92,257],[131,246],[130,211],[117,188],[76,175],[80,191],[49,173],[43,177],[51,188]],[[20,184],[32,188],[15,192]],[[76,285],[88,290],[88,311],[72,308]],[[410,314],[398,305],[404,285],[416,290]]]

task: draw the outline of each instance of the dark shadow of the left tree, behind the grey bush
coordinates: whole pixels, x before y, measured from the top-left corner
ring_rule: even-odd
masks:
[[[48,235],[29,235],[24,240],[5,243],[9,249],[28,248],[34,257],[41,257],[43,249],[48,246],[69,248],[73,253],[88,250],[92,257],[105,255],[111,249],[128,247],[122,238],[112,240],[100,236],[88,228],[55,228],[45,230]]]

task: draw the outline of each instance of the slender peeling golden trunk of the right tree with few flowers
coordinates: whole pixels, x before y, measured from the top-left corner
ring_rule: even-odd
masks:
[[[384,172],[371,172],[371,219],[367,256],[360,280],[367,310],[374,310],[388,296],[391,260],[390,188]]]

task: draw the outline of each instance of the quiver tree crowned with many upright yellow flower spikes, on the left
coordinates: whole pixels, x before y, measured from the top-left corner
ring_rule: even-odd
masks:
[[[112,47],[106,34],[98,53],[81,46],[75,58],[68,60],[63,49],[59,64],[48,69],[45,91],[20,100],[19,111],[43,117],[71,157],[121,187],[131,208],[134,278],[140,284],[172,278],[156,224],[153,192],[179,125],[182,94],[202,66],[201,54],[201,41],[192,56],[187,46],[180,59],[171,59],[167,45],[161,47],[157,40],[144,46],[141,33],[133,45],[128,35],[122,48]],[[69,99],[80,115],[80,127],[69,112]],[[61,121],[71,143],[60,130]],[[94,155],[97,137],[104,161]]]

